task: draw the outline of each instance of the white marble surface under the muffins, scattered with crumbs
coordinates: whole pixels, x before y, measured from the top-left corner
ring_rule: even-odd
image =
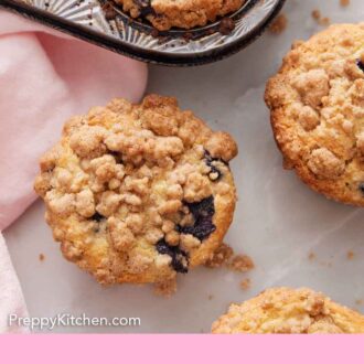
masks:
[[[246,275],[197,269],[180,278],[179,291],[170,299],[154,297],[149,287],[105,289],[61,257],[43,221],[43,206],[36,203],[6,232],[31,315],[85,312],[141,318],[140,328],[58,328],[56,332],[208,332],[229,302],[280,285],[309,286],[364,312],[356,302],[364,299],[364,212],[326,201],[282,170],[263,103],[264,84],[290,43],[320,29],[310,17],[314,8],[332,22],[364,19],[362,0],[352,0],[346,9],[339,0],[288,0],[289,28],[281,35],[265,34],[214,65],[151,67],[150,92],[179,97],[182,107],[237,139],[240,153],[233,169],[239,202],[226,240],[251,256],[256,269]],[[349,250],[354,253],[352,260]],[[40,253],[46,257],[43,263]],[[315,259],[308,259],[310,253]],[[243,291],[239,281],[247,277],[251,288]]]

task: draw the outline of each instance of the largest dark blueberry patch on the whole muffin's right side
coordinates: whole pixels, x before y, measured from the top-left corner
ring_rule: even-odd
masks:
[[[215,214],[214,196],[194,203],[185,202],[184,204],[193,215],[194,224],[192,226],[178,226],[179,233],[191,234],[201,242],[206,239],[216,231],[216,226],[213,224]]]

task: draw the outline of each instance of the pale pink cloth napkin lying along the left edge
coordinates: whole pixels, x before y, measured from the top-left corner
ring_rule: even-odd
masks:
[[[63,122],[113,97],[138,101],[147,76],[139,62],[0,11],[0,232],[35,200],[38,160]],[[0,332],[10,312],[25,312],[3,245]]]

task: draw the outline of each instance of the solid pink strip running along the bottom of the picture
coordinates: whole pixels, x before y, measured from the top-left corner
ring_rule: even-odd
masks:
[[[364,335],[3,335],[0,363],[362,363]],[[31,361],[35,358],[35,361]]]

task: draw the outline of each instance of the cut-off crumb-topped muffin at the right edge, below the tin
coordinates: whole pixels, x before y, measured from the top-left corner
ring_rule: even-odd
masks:
[[[364,206],[364,24],[298,42],[266,103],[285,167],[326,197]]]

